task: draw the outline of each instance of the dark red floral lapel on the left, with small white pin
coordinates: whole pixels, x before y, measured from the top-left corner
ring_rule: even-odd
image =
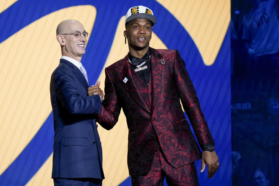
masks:
[[[128,62],[128,55],[126,55],[124,59],[122,59],[122,65],[115,70],[121,84],[124,86],[126,91],[130,94],[130,96],[135,100],[135,102],[137,102],[140,106],[142,106],[143,109],[145,109],[150,113],[151,112],[150,104],[147,95],[145,96],[146,99],[143,99],[141,95],[141,93],[146,94],[147,88],[142,84],[142,80],[137,75],[137,73],[135,73],[135,71],[133,71],[133,69],[130,68],[130,64]],[[123,80],[126,80],[126,83]],[[138,87],[136,86],[140,84],[144,86],[142,91],[139,91]]]

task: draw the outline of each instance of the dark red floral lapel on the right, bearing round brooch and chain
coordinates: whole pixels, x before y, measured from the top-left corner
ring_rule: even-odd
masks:
[[[151,82],[152,82],[152,108],[154,108],[158,102],[158,98],[162,96],[162,70],[163,65],[161,64],[161,59],[163,56],[154,48],[150,47],[151,51]],[[165,67],[164,67],[165,68]]]

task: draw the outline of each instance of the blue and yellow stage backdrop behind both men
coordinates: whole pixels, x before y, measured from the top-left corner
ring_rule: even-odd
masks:
[[[128,52],[124,15],[139,2],[2,0],[1,4],[0,186],[52,185],[49,82],[61,57],[56,26],[64,19],[77,19],[90,32],[82,64],[90,84],[101,80],[103,86],[103,68]],[[140,4],[151,8],[157,18],[150,46],[178,49],[184,59],[216,143],[220,168],[212,179],[207,178],[207,169],[198,173],[200,185],[232,185],[230,1],[142,0]],[[111,131],[98,128],[103,185],[131,185],[128,130],[121,117]],[[199,170],[200,161],[196,166]]]

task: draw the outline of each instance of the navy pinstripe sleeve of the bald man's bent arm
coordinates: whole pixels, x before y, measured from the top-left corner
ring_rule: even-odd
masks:
[[[69,114],[95,114],[101,112],[99,95],[81,96],[74,83],[71,69],[57,68],[53,74],[56,96]]]

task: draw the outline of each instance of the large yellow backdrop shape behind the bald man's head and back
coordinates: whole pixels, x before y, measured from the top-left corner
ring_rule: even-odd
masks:
[[[0,44],[1,174],[51,113],[49,82],[61,58],[57,25],[64,19],[77,19],[86,30],[92,30],[95,17],[93,6],[65,8],[38,19]]]

